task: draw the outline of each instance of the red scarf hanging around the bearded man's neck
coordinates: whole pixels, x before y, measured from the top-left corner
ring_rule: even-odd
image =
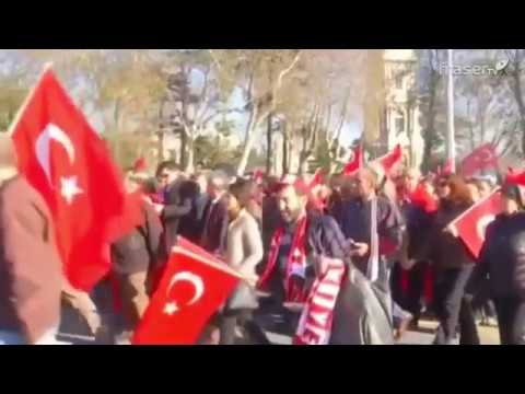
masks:
[[[258,287],[264,288],[279,258],[279,247],[281,245],[284,228],[280,228],[273,234],[270,252],[268,255],[268,265],[262,274]],[[288,257],[287,273],[284,277],[285,302],[304,302],[307,293],[304,285],[298,283],[293,277],[305,278],[306,269],[306,217],[299,219],[295,229],[290,256]]]

